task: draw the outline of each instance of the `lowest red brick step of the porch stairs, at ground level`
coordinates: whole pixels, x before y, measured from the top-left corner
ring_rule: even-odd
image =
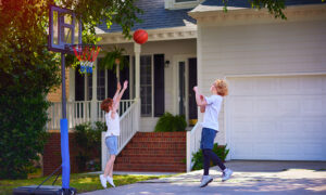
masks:
[[[120,171],[162,171],[162,172],[183,172],[186,165],[142,165],[142,164],[116,164],[114,170]]]

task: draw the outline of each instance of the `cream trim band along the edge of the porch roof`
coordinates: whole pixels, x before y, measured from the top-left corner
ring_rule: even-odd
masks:
[[[148,29],[147,32],[148,41],[193,39],[197,38],[197,26],[189,24],[186,27]],[[98,34],[98,36],[102,38],[100,44],[134,42],[133,39],[126,39],[121,31]]]

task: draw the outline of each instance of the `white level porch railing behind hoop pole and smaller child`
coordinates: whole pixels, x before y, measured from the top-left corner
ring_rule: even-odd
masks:
[[[66,103],[66,117],[68,120],[68,128],[72,129],[77,125],[87,121],[105,121],[104,112],[101,110],[102,101],[73,101]],[[123,115],[134,103],[134,100],[122,100],[120,105],[120,115]],[[96,105],[96,106],[92,106]],[[92,116],[92,108],[96,108],[96,116]],[[60,129],[60,119],[62,117],[61,102],[54,102],[48,108],[49,121],[47,129]]]

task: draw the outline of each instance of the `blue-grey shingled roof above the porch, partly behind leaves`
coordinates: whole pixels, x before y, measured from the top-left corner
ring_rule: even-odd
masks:
[[[135,5],[145,13],[137,14],[137,16],[142,20],[142,23],[136,23],[135,26],[131,27],[131,30],[139,28],[156,29],[196,25],[196,20],[188,15],[191,9],[165,10],[164,0],[138,0]],[[98,28],[102,32],[122,31],[122,28],[117,24],[113,24],[111,28],[108,29],[103,23],[99,25]]]

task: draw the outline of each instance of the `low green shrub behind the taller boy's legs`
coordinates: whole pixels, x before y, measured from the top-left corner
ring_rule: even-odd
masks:
[[[214,147],[212,150],[223,161],[225,160],[226,156],[229,153],[229,150],[226,148],[226,145],[218,145],[217,143],[214,144]],[[192,160],[193,167],[192,170],[200,170],[203,169],[203,154],[202,150],[199,150],[197,153],[192,154]],[[211,166],[213,164],[211,162]]]

